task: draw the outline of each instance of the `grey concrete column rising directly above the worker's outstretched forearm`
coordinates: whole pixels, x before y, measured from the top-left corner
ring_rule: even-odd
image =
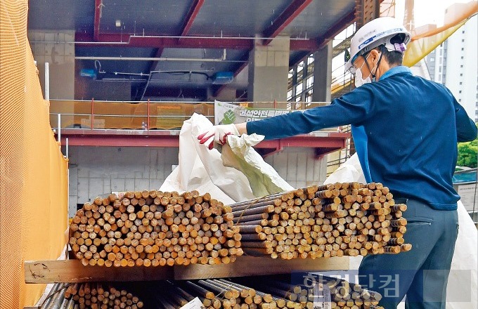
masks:
[[[249,53],[249,86],[247,100],[250,102],[285,102],[289,72],[289,37],[277,37],[267,46],[256,39]],[[254,107],[273,107],[255,104]],[[279,107],[279,106],[277,106]],[[280,106],[283,108],[283,106]]]

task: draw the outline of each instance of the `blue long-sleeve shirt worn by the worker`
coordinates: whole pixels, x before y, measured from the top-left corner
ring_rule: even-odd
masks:
[[[477,138],[477,127],[448,88],[408,67],[393,67],[328,106],[248,122],[247,133],[271,140],[345,124],[368,182],[434,209],[456,209],[457,142]]]

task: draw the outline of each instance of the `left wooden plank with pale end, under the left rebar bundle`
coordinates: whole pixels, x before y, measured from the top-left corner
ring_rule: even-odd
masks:
[[[79,260],[25,261],[25,283],[173,279],[173,268],[83,266]]]

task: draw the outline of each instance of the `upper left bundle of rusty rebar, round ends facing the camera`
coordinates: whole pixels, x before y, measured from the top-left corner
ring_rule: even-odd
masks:
[[[70,224],[76,258],[107,267],[231,263],[243,254],[240,238],[231,207],[198,191],[96,197]]]

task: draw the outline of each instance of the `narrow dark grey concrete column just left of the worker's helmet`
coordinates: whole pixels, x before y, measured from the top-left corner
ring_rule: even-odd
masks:
[[[312,101],[330,102],[330,84],[332,84],[332,41],[314,53]]]

